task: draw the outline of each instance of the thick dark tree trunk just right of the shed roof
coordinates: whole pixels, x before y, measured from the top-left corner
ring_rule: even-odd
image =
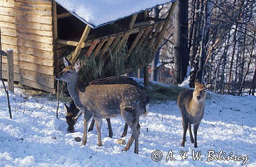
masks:
[[[188,0],[178,0],[174,11],[174,58],[175,84],[180,84],[186,76],[188,54]]]

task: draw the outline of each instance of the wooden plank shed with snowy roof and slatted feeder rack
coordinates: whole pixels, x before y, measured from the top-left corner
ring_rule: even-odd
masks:
[[[117,52],[124,44],[126,60],[145,44],[156,51],[175,4],[166,19],[148,17],[145,11],[174,1],[113,2],[0,0],[2,49],[14,51],[14,80],[55,93],[54,75],[62,68],[60,60],[67,47],[73,47],[72,62],[82,48],[87,48],[85,57],[103,61],[108,59],[107,51]],[[3,77],[7,78],[6,58],[3,63]]]

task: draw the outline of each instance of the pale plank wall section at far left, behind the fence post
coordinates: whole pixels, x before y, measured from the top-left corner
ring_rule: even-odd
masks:
[[[0,27],[2,33],[2,50],[7,51],[7,49],[13,49],[14,80],[20,81],[14,7],[14,0],[0,0]],[[7,78],[6,57],[3,57],[2,74],[3,78]]]

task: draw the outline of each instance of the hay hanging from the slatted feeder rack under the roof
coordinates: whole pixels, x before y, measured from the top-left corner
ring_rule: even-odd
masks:
[[[111,52],[107,50],[102,58],[108,56],[108,59],[104,62],[103,59],[99,58],[100,52],[94,57],[94,51],[89,57],[86,57],[88,48],[82,48],[78,59],[81,61],[80,78],[84,84],[88,84],[90,81],[98,78],[104,78],[108,76],[121,75],[126,72],[134,71],[141,68],[149,63],[155,57],[152,49],[145,45],[145,47],[135,47],[132,51],[129,59],[126,60],[128,48],[124,43],[121,48]],[[66,51],[66,56],[69,60],[71,59],[74,51]]]

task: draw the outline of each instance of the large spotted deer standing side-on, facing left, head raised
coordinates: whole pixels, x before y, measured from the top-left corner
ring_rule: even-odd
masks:
[[[80,61],[75,65],[64,58],[65,66],[55,78],[67,82],[69,94],[75,105],[84,113],[82,145],[87,143],[88,121],[94,116],[98,133],[98,146],[102,146],[101,122],[103,118],[121,115],[132,129],[132,135],[123,149],[130,149],[135,141],[134,153],[139,153],[139,117],[147,113],[149,99],[141,89],[127,84],[89,85],[84,87],[79,79]]]

